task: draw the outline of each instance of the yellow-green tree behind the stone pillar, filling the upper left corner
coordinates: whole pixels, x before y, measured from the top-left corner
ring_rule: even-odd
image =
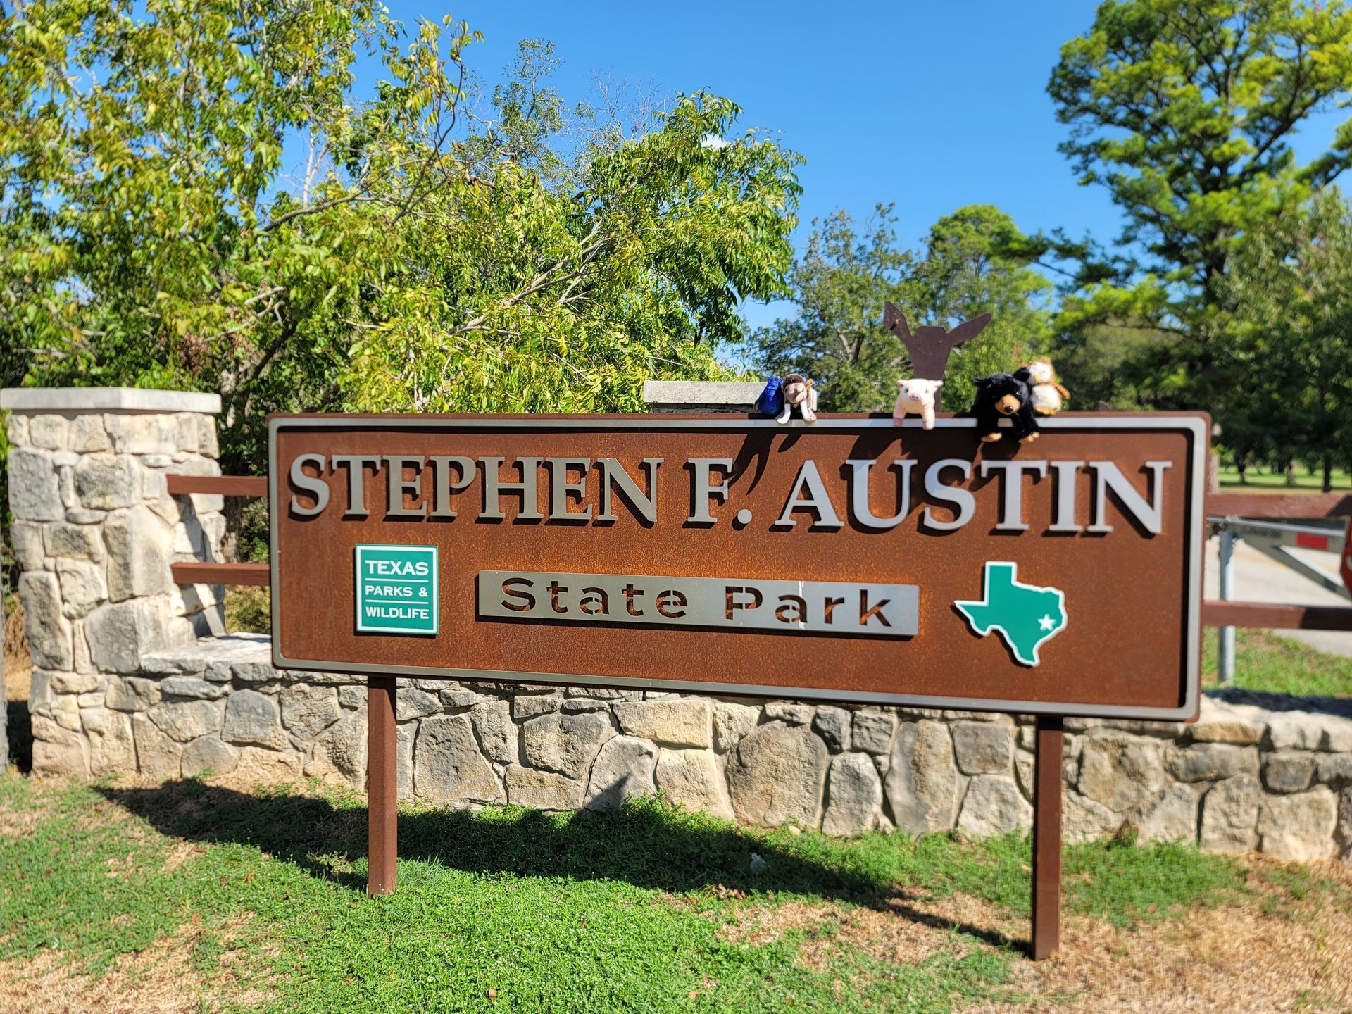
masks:
[[[339,407],[349,322],[441,173],[473,38],[423,24],[404,47],[372,5],[326,0],[5,16],[5,383],[219,391],[222,464],[257,469],[268,411]],[[365,108],[360,50],[400,82]],[[310,150],[295,187],[292,139]]]

